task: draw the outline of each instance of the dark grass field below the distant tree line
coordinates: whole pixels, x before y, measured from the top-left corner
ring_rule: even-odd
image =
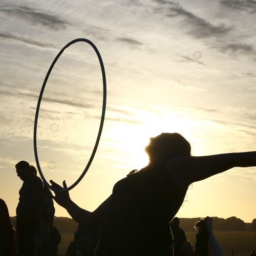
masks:
[[[231,256],[232,250],[233,250],[233,256],[240,256],[240,255],[250,256],[251,249],[256,248],[256,232],[216,231],[215,236],[221,246],[224,256],[229,256],[229,255]],[[187,240],[189,240],[195,246],[196,235],[193,232],[186,232],[186,237],[187,237]],[[62,240],[59,245],[59,251],[58,251],[59,256],[66,256],[67,248],[70,244],[70,241],[73,241],[73,239],[74,239],[73,234],[62,235]]]

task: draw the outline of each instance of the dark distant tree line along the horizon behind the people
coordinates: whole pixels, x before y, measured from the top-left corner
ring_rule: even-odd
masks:
[[[196,222],[201,218],[180,218],[180,227],[186,232],[192,231]],[[250,231],[251,223],[245,223],[237,217],[229,217],[227,219],[212,217],[214,231]],[[11,217],[11,221],[15,226],[16,216]],[[61,234],[73,234],[77,230],[78,223],[71,218],[55,217],[54,226],[56,226]]]

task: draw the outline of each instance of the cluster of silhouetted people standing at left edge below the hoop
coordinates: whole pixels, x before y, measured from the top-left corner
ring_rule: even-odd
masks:
[[[57,256],[61,236],[53,225],[55,208],[52,193],[36,168],[26,161],[16,165],[23,181],[16,208],[16,227],[10,220],[4,200],[0,199],[0,256]]]

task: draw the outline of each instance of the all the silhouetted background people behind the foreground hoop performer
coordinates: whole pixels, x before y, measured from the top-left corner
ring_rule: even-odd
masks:
[[[34,166],[20,161],[15,167],[17,176],[23,181],[16,208],[16,227],[14,228],[10,220],[6,203],[0,199],[0,256],[57,256],[61,235],[53,225],[55,208],[52,193],[37,176]],[[172,255],[222,256],[221,248],[212,232],[210,217],[195,224],[195,250],[179,225],[180,220],[177,217],[170,222],[173,234]],[[67,256],[94,256],[100,232],[100,226],[79,223],[74,241],[68,247]],[[251,255],[256,256],[254,249]]]

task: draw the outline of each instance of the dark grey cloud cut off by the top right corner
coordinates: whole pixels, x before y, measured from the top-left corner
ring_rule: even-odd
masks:
[[[254,0],[222,0],[220,3],[235,10],[247,11],[250,13],[256,12],[256,1]]]

